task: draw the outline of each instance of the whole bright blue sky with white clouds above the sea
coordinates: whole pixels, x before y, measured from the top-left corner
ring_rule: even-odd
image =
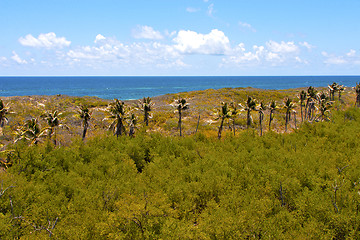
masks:
[[[0,0],[0,76],[360,75],[359,0]]]

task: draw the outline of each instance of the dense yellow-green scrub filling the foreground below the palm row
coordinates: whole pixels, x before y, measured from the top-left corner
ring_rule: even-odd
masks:
[[[20,140],[2,153],[0,239],[357,239],[359,128],[337,105],[289,134]]]

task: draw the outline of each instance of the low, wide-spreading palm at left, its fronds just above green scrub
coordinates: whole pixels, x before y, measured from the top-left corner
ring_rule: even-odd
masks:
[[[26,139],[30,141],[30,145],[37,145],[41,141],[41,138],[48,134],[48,131],[48,128],[41,129],[38,124],[38,120],[36,118],[32,118],[26,121],[24,126],[17,130],[18,137],[15,142]]]

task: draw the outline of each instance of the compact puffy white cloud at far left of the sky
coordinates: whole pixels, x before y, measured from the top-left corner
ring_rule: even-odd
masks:
[[[67,41],[65,37],[56,37],[53,32],[40,34],[38,38],[33,37],[31,34],[20,37],[19,42],[23,46],[38,47],[38,48],[63,48],[70,46],[71,42]]]

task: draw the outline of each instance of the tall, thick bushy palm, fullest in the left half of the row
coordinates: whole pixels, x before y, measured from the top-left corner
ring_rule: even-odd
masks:
[[[126,106],[125,103],[119,101],[118,99],[114,99],[109,105],[108,112],[110,116],[105,119],[113,119],[113,122],[110,124],[109,129],[114,131],[114,136],[119,137],[125,132],[124,121],[126,118]]]

